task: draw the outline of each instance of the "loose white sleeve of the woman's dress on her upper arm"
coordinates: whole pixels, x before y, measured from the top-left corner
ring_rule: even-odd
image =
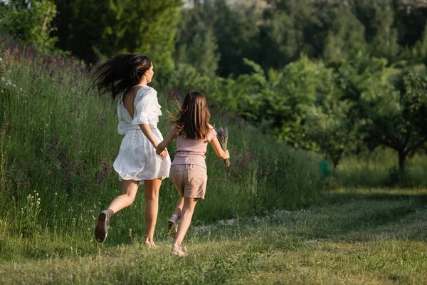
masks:
[[[132,125],[151,124],[152,109],[157,108],[157,92],[154,89],[147,93],[139,92],[135,98],[134,108],[135,115],[132,120]]]

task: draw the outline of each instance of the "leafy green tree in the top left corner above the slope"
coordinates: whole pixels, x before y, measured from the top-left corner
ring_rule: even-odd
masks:
[[[58,40],[51,36],[56,31],[52,23],[56,14],[52,0],[10,0],[0,8],[0,32],[51,51]]]

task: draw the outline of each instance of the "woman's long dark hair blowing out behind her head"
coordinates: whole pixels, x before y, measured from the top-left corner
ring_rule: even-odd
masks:
[[[148,56],[132,53],[120,53],[98,63],[92,70],[92,88],[97,88],[100,95],[111,93],[115,100],[136,86],[145,71],[152,66]]]

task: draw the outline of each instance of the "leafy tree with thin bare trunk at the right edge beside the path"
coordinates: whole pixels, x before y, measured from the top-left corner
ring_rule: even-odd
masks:
[[[426,143],[426,78],[401,73],[389,83],[392,68],[386,59],[357,58],[337,70],[344,98],[356,103],[350,116],[359,119],[359,135],[369,145],[396,150],[399,171],[405,161]],[[420,112],[419,110],[422,110]]]

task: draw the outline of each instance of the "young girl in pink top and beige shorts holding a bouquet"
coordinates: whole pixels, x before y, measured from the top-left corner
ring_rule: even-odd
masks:
[[[176,155],[172,162],[170,180],[178,190],[179,198],[175,212],[168,221],[168,232],[173,224],[181,219],[178,226],[171,254],[180,257],[186,256],[181,249],[181,242],[191,224],[194,207],[199,199],[204,199],[206,192],[205,153],[208,142],[218,157],[230,158],[228,150],[222,150],[216,138],[214,128],[209,125],[209,108],[205,96],[197,91],[189,92],[182,106],[179,106],[178,115],[172,117],[172,126],[169,134],[157,145],[157,154],[162,154],[166,147],[176,139]]]

